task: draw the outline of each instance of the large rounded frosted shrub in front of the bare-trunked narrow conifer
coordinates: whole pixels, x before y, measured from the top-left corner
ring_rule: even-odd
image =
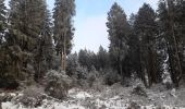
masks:
[[[64,72],[49,71],[47,73],[45,92],[54,98],[63,99],[72,84],[72,80]]]

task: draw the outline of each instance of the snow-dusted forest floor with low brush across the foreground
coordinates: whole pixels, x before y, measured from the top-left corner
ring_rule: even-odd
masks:
[[[2,109],[185,109],[185,86],[166,90],[162,85],[153,85],[145,89],[147,96],[133,94],[134,87],[123,87],[120,84],[102,86],[101,92],[95,89],[72,88],[65,100],[54,98],[42,99],[37,108],[24,108],[13,100],[2,102]],[[22,92],[1,93],[0,97],[10,95],[15,98]],[[13,99],[12,98],[12,99]],[[132,105],[136,108],[128,108]]]

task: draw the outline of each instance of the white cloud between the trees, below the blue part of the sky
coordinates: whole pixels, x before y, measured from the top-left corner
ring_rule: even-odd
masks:
[[[86,19],[77,20],[75,23],[76,31],[74,37],[73,51],[87,48],[89,50],[98,51],[99,46],[108,48],[108,33],[107,33],[107,15],[88,16]]]

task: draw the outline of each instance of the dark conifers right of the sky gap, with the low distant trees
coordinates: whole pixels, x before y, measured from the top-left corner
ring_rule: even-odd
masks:
[[[115,2],[108,12],[109,52],[102,47],[98,53],[81,50],[79,65],[88,71],[112,69],[123,84],[134,75],[147,87],[157,83],[178,87],[184,78],[184,8],[183,0],[160,0],[157,11],[144,3],[127,19]]]

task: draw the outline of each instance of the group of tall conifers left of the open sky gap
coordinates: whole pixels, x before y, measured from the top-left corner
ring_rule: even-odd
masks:
[[[55,0],[54,5],[52,22],[46,0],[10,0],[10,9],[0,1],[0,87],[11,80],[39,82],[48,70],[58,69],[58,53],[61,63],[66,63],[75,4],[74,0]]]

